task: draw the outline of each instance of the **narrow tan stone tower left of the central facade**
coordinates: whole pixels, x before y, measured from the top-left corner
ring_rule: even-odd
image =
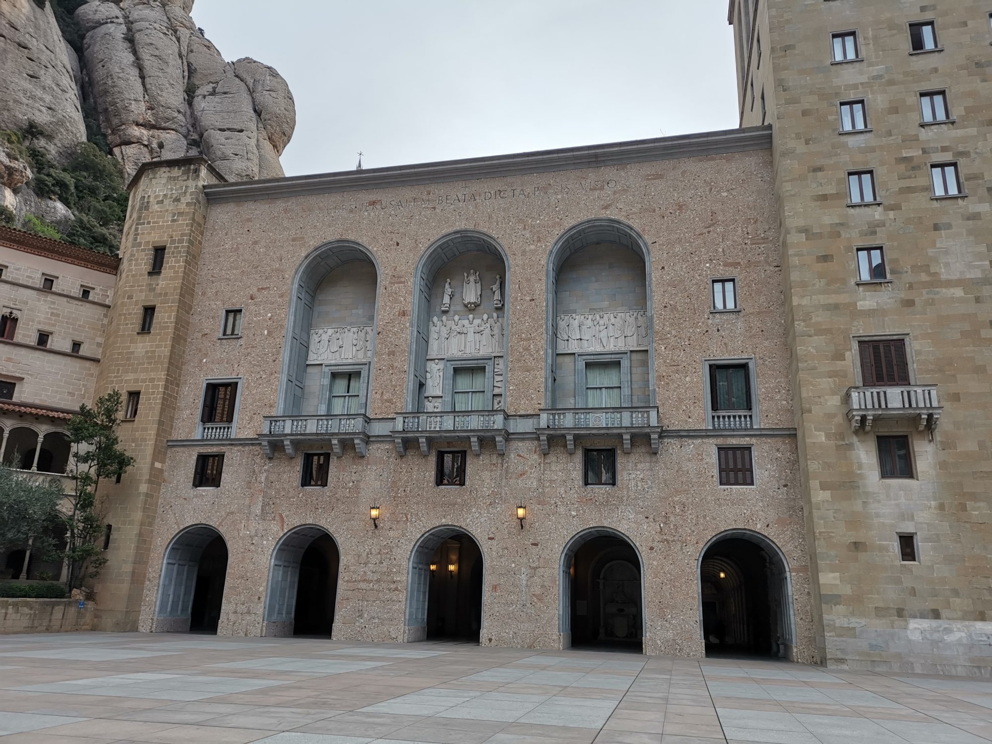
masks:
[[[194,157],[146,163],[131,182],[96,396],[116,389],[125,399],[140,391],[141,399],[137,416],[119,430],[135,465],[99,494],[113,529],[96,583],[98,630],[138,627],[206,220],[202,187],[221,181],[204,158]]]

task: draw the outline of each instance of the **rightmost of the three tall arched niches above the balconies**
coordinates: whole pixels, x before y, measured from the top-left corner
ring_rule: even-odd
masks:
[[[612,218],[579,222],[548,257],[545,406],[654,406],[651,250]],[[601,385],[600,385],[601,383]]]

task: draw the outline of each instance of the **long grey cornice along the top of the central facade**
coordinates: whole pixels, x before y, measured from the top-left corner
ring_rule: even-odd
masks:
[[[213,184],[204,186],[204,191],[210,203],[289,198],[335,191],[418,186],[573,171],[582,168],[602,168],[629,163],[701,158],[750,150],[770,150],[771,147],[771,127],[750,127],[395,168]]]

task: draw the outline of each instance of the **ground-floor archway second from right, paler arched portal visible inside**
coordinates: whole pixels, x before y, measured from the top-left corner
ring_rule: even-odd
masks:
[[[640,653],[644,642],[644,562],[631,540],[606,527],[584,530],[561,553],[561,647]]]

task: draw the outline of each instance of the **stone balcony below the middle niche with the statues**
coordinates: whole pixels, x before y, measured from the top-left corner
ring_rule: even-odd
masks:
[[[436,413],[403,413],[396,415],[395,429],[390,433],[396,451],[404,455],[407,444],[417,442],[421,454],[431,453],[432,441],[467,440],[475,454],[482,453],[482,441],[496,443],[496,451],[506,453],[509,432],[505,411],[438,411]]]

